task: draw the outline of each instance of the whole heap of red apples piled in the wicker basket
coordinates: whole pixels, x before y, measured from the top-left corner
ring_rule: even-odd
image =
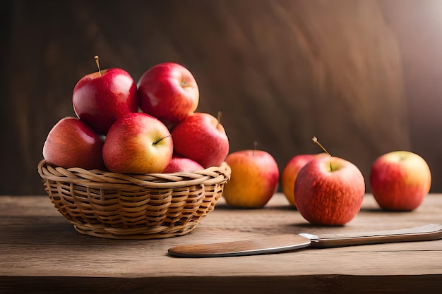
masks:
[[[178,63],[149,68],[138,83],[121,68],[81,78],[77,117],[54,125],[43,146],[48,164],[115,173],[194,172],[220,166],[229,140],[219,117],[196,112],[199,90]]]

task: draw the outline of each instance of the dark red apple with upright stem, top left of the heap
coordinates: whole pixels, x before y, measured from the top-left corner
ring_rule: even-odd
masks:
[[[138,92],[131,75],[121,68],[90,73],[73,88],[73,109],[82,121],[103,135],[118,118],[138,112]]]

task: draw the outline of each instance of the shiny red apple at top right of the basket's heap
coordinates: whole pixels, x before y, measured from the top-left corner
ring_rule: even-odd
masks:
[[[140,109],[167,125],[196,111],[199,90],[191,72],[178,63],[153,66],[138,80]]]

